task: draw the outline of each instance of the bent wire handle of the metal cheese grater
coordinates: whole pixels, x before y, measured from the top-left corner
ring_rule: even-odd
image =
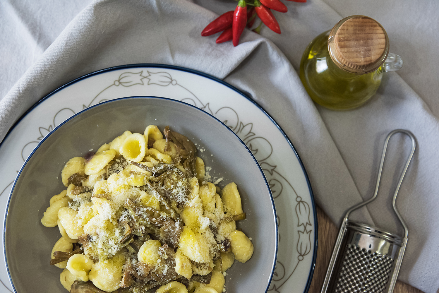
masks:
[[[385,139],[385,142],[384,142],[383,153],[381,155],[381,163],[380,163],[380,168],[378,170],[377,184],[375,185],[374,196],[372,196],[370,199],[366,200],[363,203],[359,203],[356,206],[351,207],[346,212],[345,218],[343,219],[343,222],[345,222],[347,220],[347,218],[349,216],[349,213],[351,213],[352,211],[354,211],[356,209],[359,209],[362,206],[367,205],[368,203],[370,203],[371,201],[373,201],[377,197],[377,195],[378,195],[378,188],[379,188],[380,181],[381,181],[381,173],[382,173],[383,165],[384,165],[384,158],[385,158],[385,154],[386,154],[386,150],[387,150],[387,145],[389,144],[390,137],[393,134],[396,134],[398,132],[403,133],[403,134],[407,134],[407,136],[410,137],[410,140],[412,142],[412,149],[411,149],[410,155],[408,156],[406,164],[405,164],[404,169],[403,169],[403,172],[401,173],[401,176],[399,177],[399,181],[398,181],[398,184],[396,185],[395,194],[393,195],[393,200],[392,200],[393,210],[395,211],[396,216],[398,217],[399,221],[401,222],[401,224],[403,225],[403,228],[404,228],[404,238],[407,238],[407,236],[408,236],[408,228],[407,228],[406,223],[403,220],[403,217],[401,217],[401,215],[399,214],[398,210],[396,209],[396,196],[398,195],[399,187],[401,186],[401,183],[403,182],[404,175],[406,174],[407,168],[408,168],[408,166],[410,164],[410,161],[411,161],[411,159],[413,157],[413,154],[414,154],[414,151],[416,149],[416,140],[414,138],[414,135],[409,130],[396,129],[396,130],[393,130],[392,132],[390,132],[387,135],[387,137]]]

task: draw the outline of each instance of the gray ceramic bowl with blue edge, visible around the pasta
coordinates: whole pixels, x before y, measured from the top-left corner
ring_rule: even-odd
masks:
[[[61,169],[68,159],[96,150],[124,130],[143,133],[150,124],[160,129],[170,125],[191,138],[205,149],[198,156],[212,167],[212,177],[223,177],[224,184],[236,182],[247,213],[238,227],[252,237],[255,251],[247,263],[235,261],[227,271],[227,292],[267,291],[276,264],[276,212],[252,153],[233,131],[194,106],[166,98],[131,97],[104,102],[68,119],[41,141],[22,167],[11,191],[4,227],[4,253],[16,292],[66,292],[59,281],[62,270],[49,264],[59,230],[44,227],[40,219],[50,197],[65,189]]]

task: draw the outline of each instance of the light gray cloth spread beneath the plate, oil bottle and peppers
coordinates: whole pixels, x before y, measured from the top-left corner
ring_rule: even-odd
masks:
[[[234,9],[236,2],[230,0],[43,2],[0,2],[0,139],[36,101],[86,73],[132,63],[184,66],[224,79],[273,116],[301,156],[316,202],[338,223],[347,208],[371,196],[385,136],[408,129],[418,148],[397,200],[409,227],[399,280],[436,293],[439,66],[428,54],[438,45],[438,3],[285,1],[288,13],[275,12],[281,35],[263,28],[265,39],[245,30],[240,45],[233,47],[231,42],[215,44],[216,35],[200,36],[217,14]],[[307,43],[351,14],[381,22],[391,51],[407,61],[400,72],[386,75],[366,105],[333,112],[309,99],[296,70]],[[390,195],[408,151],[403,136],[391,141],[379,198],[354,219],[402,233]]]

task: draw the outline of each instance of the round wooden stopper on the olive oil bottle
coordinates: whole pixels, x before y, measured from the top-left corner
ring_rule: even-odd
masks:
[[[354,15],[334,26],[329,33],[328,49],[338,67],[364,74],[384,63],[389,54],[389,38],[376,20]]]

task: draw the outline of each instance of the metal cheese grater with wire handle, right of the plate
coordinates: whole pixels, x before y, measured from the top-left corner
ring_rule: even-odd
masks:
[[[378,194],[381,171],[390,137],[401,132],[412,141],[412,149],[404,166],[395,194],[393,210],[404,228],[404,237],[348,219],[349,214],[374,200]],[[332,251],[321,293],[392,293],[407,245],[407,226],[396,210],[396,195],[413,157],[416,142],[408,130],[393,130],[387,136],[378,170],[375,193],[371,199],[351,207],[345,214]]]

